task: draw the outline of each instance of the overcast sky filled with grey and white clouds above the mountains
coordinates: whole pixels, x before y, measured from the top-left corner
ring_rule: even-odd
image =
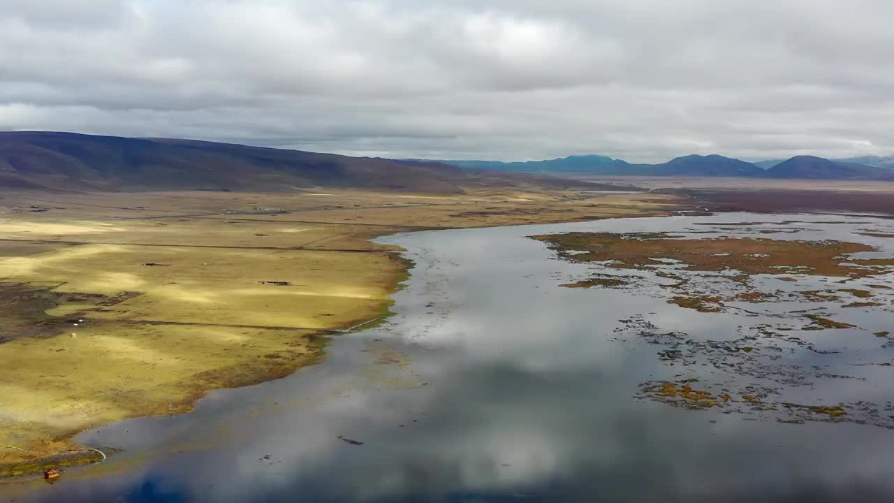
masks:
[[[0,4],[0,130],[395,158],[894,154],[890,0]]]

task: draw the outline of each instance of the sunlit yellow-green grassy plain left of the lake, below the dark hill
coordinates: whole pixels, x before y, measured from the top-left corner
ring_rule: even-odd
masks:
[[[384,316],[406,277],[375,236],[681,204],[500,190],[0,193],[0,475],[58,463],[82,448],[79,431],[185,412],[208,390],[320,361],[325,337]]]

